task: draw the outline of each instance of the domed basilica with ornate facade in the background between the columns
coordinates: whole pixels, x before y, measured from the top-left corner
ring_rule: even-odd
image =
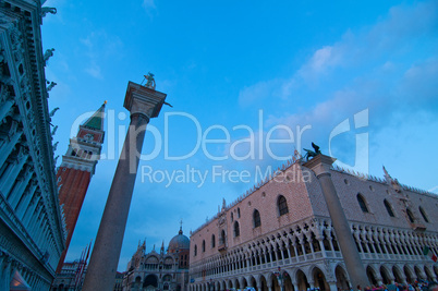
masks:
[[[186,291],[188,284],[190,240],[180,229],[178,235],[169,242],[168,252],[165,244],[160,253],[154,250],[145,254],[146,243],[138,243],[137,251],[127,263],[123,278],[123,291]]]

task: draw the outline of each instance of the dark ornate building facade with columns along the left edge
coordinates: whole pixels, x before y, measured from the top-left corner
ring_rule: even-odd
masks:
[[[20,277],[49,289],[65,247],[40,32],[56,10],[42,2],[0,1],[0,290]]]

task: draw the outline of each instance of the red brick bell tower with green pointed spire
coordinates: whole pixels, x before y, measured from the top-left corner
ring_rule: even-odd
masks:
[[[58,263],[57,272],[61,271],[64,264],[85,194],[100,158],[105,137],[106,104],[107,101],[84,124],[80,125],[75,137],[70,138],[69,148],[62,156],[62,162],[58,169],[59,202],[63,208],[68,234],[65,250]]]

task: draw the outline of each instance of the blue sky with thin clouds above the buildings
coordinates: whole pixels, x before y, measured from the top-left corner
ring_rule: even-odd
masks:
[[[58,9],[42,25],[44,49],[56,49],[46,75],[58,83],[49,98],[50,108],[60,107],[52,119],[57,155],[83,114],[108,100],[106,158],[66,259],[78,258],[96,235],[129,124],[126,85],[149,71],[173,108],[163,107],[149,124],[141,161],[146,179],[139,173],[136,181],[119,270],[138,240],[147,238],[148,251],[162,240],[167,245],[180,219],[188,235],[222,197],[230,203],[251,189],[257,169],[281,166],[312,141],[340,165],[380,178],[385,165],[401,183],[438,193],[436,0],[45,5]],[[283,143],[268,146],[273,138]],[[206,181],[163,178],[187,167]],[[214,168],[250,178],[212,181]]]

